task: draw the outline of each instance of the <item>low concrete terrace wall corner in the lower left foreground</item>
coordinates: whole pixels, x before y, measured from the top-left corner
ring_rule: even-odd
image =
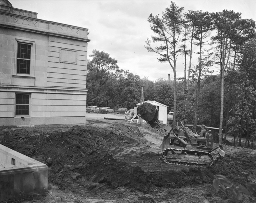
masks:
[[[0,144],[0,201],[46,192],[48,167]]]

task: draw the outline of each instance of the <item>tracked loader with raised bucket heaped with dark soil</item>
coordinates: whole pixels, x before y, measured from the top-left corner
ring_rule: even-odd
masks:
[[[204,137],[197,137],[177,118],[171,125],[161,124],[155,105],[143,103],[138,106],[137,114],[152,128],[159,127],[165,136],[161,144],[162,159],[168,164],[186,166],[211,166],[213,161],[224,156],[222,145],[213,147],[213,137],[209,130]]]

